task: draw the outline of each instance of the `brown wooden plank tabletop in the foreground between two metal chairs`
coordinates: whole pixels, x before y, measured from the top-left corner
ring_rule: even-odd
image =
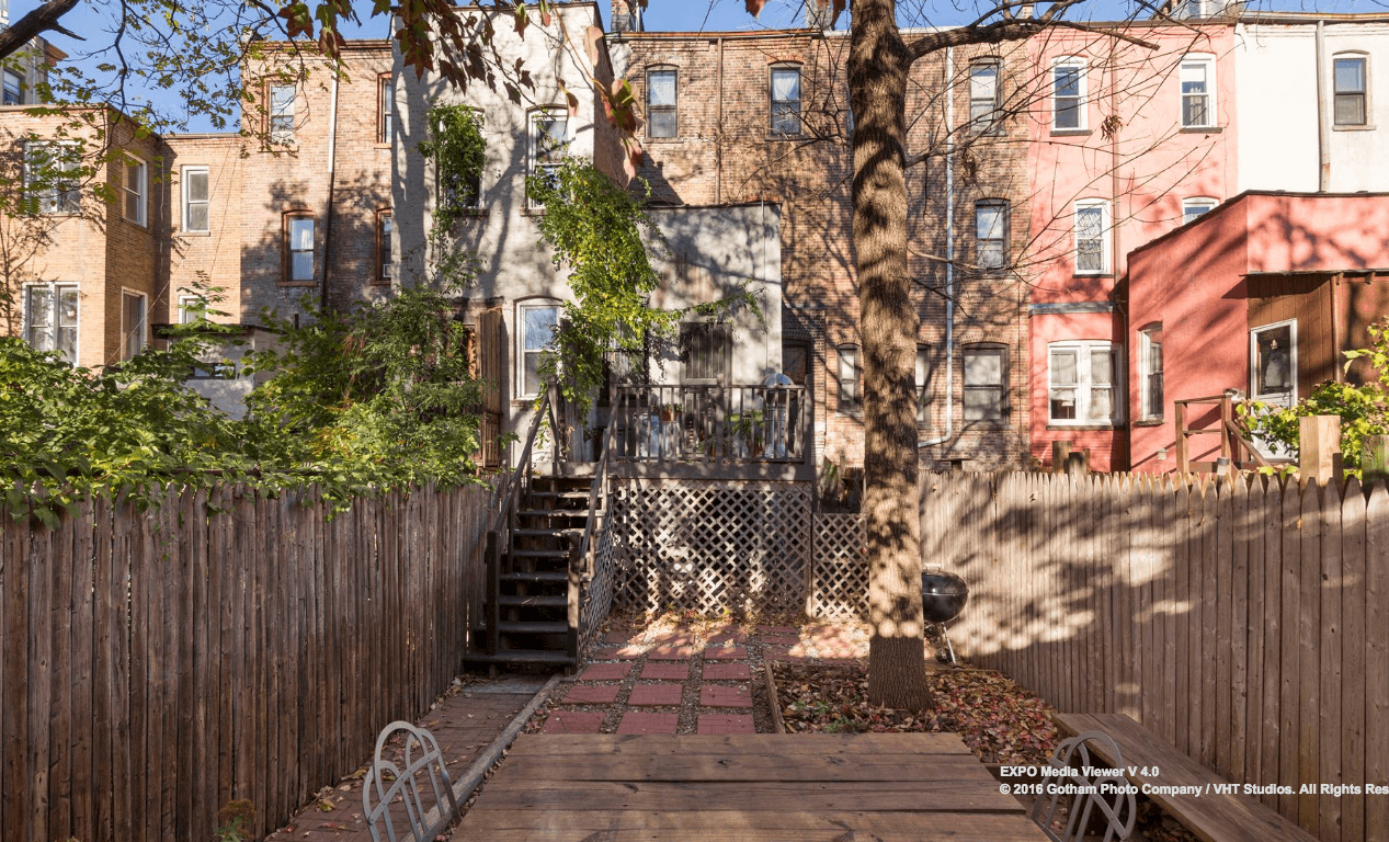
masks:
[[[1038,842],[954,734],[525,735],[453,839]]]

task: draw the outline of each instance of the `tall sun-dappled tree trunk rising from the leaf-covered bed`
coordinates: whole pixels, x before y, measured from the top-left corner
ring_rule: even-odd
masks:
[[[853,232],[864,356],[868,531],[868,700],[929,700],[917,513],[915,352],[920,317],[907,275],[906,97],[911,60],[893,0],[854,0],[849,94],[854,110]]]

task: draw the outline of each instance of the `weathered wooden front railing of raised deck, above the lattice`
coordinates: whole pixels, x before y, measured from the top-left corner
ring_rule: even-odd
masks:
[[[804,386],[618,386],[614,453],[622,461],[801,463],[811,407]]]

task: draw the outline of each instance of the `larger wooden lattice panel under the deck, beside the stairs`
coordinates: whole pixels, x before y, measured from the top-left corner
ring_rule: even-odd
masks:
[[[624,609],[804,609],[808,484],[663,479],[614,497]]]

